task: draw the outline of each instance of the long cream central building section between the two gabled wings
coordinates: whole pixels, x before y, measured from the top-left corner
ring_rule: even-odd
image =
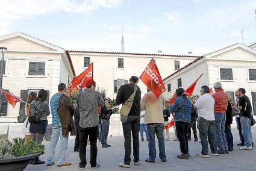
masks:
[[[90,51],[68,51],[67,55],[72,59],[76,75],[93,62],[93,79],[96,81],[96,87],[99,90],[104,89],[107,97],[111,99],[116,99],[119,87],[127,83],[132,75],[139,77],[142,74],[151,58],[154,58],[162,78],[199,58],[186,55]],[[146,86],[142,81],[139,81],[138,85],[143,96],[146,93]]]

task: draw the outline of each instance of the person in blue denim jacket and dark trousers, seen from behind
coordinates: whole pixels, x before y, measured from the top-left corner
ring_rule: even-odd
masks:
[[[177,158],[189,159],[189,143],[187,139],[187,131],[190,125],[190,112],[192,110],[192,102],[184,95],[185,90],[183,88],[176,89],[176,96],[173,105],[169,107],[170,113],[175,112],[175,125],[177,131],[177,137],[180,141],[181,155]]]

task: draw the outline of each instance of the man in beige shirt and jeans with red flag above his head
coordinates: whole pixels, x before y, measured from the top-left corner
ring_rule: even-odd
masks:
[[[165,146],[164,146],[164,118],[163,110],[165,106],[164,96],[161,95],[166,89],[161,79],[160,72],[154,60],[151,60],[140,76],[140,79],[148,87],[142,99],[140,108],[146,110],[145,122],[149,134],[149,158],[146,162],[155,163],[156,150],[155,150],[155,134],[158,139],[159,157],[162,162],[166,162]]]

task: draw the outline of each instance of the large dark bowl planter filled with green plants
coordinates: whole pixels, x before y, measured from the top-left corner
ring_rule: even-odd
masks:
[[[0,139],[0,168],[3,170],[23,170],[29,161],[39,157],[45,150],[44,145],[39,145],[33,140],[14,138],[11,143],[7,138]]]

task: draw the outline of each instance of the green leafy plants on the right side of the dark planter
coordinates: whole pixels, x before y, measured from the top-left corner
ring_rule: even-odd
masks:
[[[13,154],[16,157],[35,154],[38,152],[43,152],[45,150],[44,145],[39,145],[35,143],[33,140],[27,141],[25,143],[24,138],[14,138],[13,141]]]

